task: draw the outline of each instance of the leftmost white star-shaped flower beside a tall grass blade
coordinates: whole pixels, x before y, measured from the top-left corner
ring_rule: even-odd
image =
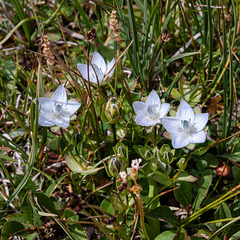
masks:
[[[53,93],[52,98],[39,98],[41,114],[38,123],[41,126],[51,127],[57,125],[67,128],[70,116],[76,112],[81,103],[67,101],[67,94],[62,85]]]

